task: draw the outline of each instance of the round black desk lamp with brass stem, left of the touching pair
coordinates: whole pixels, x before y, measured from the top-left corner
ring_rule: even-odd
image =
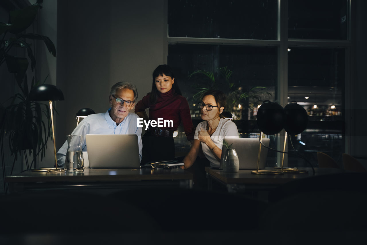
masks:
[[[286,114],[283,107],[275,102],[265,100],[257,111],[256,122],[260,129],[260,147],[257,160],[257,170],[252,171],[252,174],[283,174],[283,171],[275,170],[259,170],[260,153],[262,145],[262,134],[272,135],[279,133],[284,126]],[[283,153],[284,154],[284,153]],[[284,160],[284,155],[283,155]],[[282,163],[283,166],[283,163]]]

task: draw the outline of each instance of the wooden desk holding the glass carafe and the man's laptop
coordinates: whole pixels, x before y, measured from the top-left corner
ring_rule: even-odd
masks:
[[[91,169],[82,173],[25,171],[5,177],[10,192],[41,190],[192,188],[193,175],[181,168]]]

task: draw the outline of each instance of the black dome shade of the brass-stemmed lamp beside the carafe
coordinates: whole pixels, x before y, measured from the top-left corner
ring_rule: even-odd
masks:
[[[52,84],[42,84],[34,87],[29,92],[30,100],[64,100],[64,95],[57,86]]]

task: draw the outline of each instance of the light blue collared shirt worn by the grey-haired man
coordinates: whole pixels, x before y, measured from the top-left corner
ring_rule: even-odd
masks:
[[[87,116],[79,123],[71,134],[83,135],[81,140],[81,148],[83,149],[83,152],[87,151],[86,134],[136,134],[138,135],[139,157],[141,160],[143,144],[141,142],[141,127],[138,127],[138,115],[135,113],[129,113],[119,125],[116,125],[116,122],[113,121],[109,115],[110,110],[111,108],[108,109],[106,113],[91,114]],[[113,142],[111,142],[111,144],[113,144]],[[68,141],[65,141],[57,152],[58,166],[64,166],[67,150]]]

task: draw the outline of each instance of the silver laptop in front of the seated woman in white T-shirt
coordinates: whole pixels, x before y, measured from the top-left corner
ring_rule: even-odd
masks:
[[[257,169],[257,159],[259,154],[259,139],[252,138],[225,138],[228,144],[233,144],[232,149],[235,149],[240,162],[239,169]],[[262,143],[269,147],[270,139],[262,139]],[[222,156],[219,169],[222,169],[223,158],[226,152],[226,147],[222,148]],[[268,148],[261,146],[259,169],[265,167],[266,156],[268,155]]]

